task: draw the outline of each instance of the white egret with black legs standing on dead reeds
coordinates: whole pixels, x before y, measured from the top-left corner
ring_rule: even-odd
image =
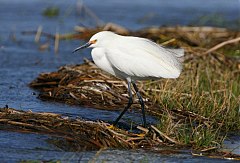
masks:
[[[146,127],[144,102],[135,84],[136,80],[178,78],[182,63],[180,57],[183,50],[167,49],[148,39],[121,36],[110,31],[102,31],[93,35],[89,42],[76,48],[93,48],[94,63],[102,70],[125,79],[128,83],[129,101],[114,125],[133,103],[131,84],[136,91],[143,114],[143,126]]]

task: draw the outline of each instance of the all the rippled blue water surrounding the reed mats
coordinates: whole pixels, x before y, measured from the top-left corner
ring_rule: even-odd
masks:
[[[104,0],[103,3],[99,3],[95,0],[88,0],[83,2],[94,11],[102,22],[114,22],[131,30],[152,25],[191,24],[191,22],[202,15],[215,13],[221,13],[227,22],[232,22],[239,18],[239,1],[237,0],[227,2],[224,0],[203,1],[187,0],[183,3],[177,0],[153,0],[146,3],[144,0],[132,0],[130,2],[127,0]],[[89,50],[85,50],[82,55],[71,54],[72,49],[79,45],[79,41],[61,41],[59,54],[54,55],[54,42],[52,40],[49,41],[50,47],[48,50],[39,51],[39,43],[34,43],[33,35],[21,34],[22,31],[36,30],[39,25],[43,27],[44,32],[52,34],[56,32],[72,32],[76,24],[88,27],[95,26],[95,21],[87,15],[79,14],[76,11],[76,4],[79,4],[79,1],[0,1],[1,107],[8,105],[9,107],[32,110],[34,112],[55,112],[72,117],[78,116],[84,119],[101,119],[104,121],[112,121],[119,115],[119,112],[44,102],[37,99],[33,93],[35,90],[28,87],[28,83],[41,72],[56,71],[62,65],[82,63],[83,57],[90,58]],[[60,9],[60,15],[57,18],[42,16],[43,10],[49,6],[57,6]],[[229,27],[233,28],[234,26]],[[42,37],[40,44],[47,41],[46,38]],[[134,119],[137,123],[141,123],[140,117],[138,113],[128,113],[124,116],[125,120]],[[154,123],[154,119],[151,119],[151,117],[148,117],[148,120]],[[239,137],[237,138],[235,142],[239,143]],[[0,131],[0,159],[3,162],[15,162],[23,159],[71,162],[78,160],[87,161],[96,158],[96,151],[66,152],[47,143],[46,140],[48,139],[51,139],[51,137],[47,135]],[[235,149],[235,152],[240,153],[238,148]],[[96,160],[118,162],[124,162],[124,160],[136,162],[177,162],[179,160],[198,162],[201,159],[206,159],[208,162],[216,161],[209,158],[196,158],[184,152],[174,155],[162,155],[145,151],[121,150],[106,150],[96,158]]]

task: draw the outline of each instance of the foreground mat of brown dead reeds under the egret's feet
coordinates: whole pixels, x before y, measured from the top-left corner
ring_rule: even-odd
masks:
[[[146,149],[159,146],[164,142],[178,144],[154,126],[151,126],[150,130],[139,127],[142,133],[135,134],[104,122],[70,119],[54,113],[33,113],[11,108],[0,109],[0,124],[1,129],[64,138],[73,151],[98,150],[107,147]]]

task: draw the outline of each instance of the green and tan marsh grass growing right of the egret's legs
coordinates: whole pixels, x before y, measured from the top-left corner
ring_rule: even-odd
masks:
[[[219,146],[228,131],[240,129],[240,70],[218,56],[199,56],[184,63],[177,80],[148,82],[145,90],[163,108],[158,128],[195,148]],[[180,109],[194,117],[176,118]]]

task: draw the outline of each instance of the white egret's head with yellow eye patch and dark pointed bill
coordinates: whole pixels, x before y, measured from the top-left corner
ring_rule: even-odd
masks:
[[[98,32],[94,34],[86,44],[74,49],[73,53],[80,49],[84,49],[88,47],[91,47],[91,48],[106,47],[110,44],[110,42],[115,36],[117,36],[117,34],[110,31]]]

